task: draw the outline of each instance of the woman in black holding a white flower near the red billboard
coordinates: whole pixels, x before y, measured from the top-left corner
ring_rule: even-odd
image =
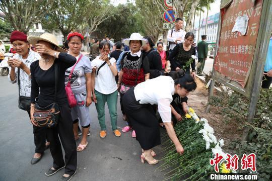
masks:
[[[179,43],[171,51],[169,60],[171,63],[171,70],[183,69],[186,62],[190,60],[191,55],[195,55],[195,47],[192,46],[194,35],[191,32],[186,33],[184,42]],[[195,77],[195,60],[191,62],[191,75]],[[190,74],[190,66],[185,67],[185,73]]]

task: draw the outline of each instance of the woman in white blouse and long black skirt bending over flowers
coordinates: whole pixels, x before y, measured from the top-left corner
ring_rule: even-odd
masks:
[[[171,124],[170,103],[174,94],[185,98],[189,92],[194,91],[196,83],[190,75],[184,75],[183,71],[176,73],[178,78],[175,80],[170,76],[159,76],[139,83],[130,88],[123,97],[124,111],[132,123],[137,140],[144,149],[141,155],[142,162],[146,160],[149,164],[158,163],[152,156],[152,148],[161,144],[158,120],[152,109],[154,104],[158,105],[158,112],[177,152],[179,154],[184,152]]]

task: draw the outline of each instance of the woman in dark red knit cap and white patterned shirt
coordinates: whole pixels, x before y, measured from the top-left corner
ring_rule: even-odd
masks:
[[[18,71],[20,87],[20,96],[30,97],[31,92],[31,74],[30,64],[38,59],[40,55],[30,50],[30,44],[27,41],[27,35],[20,31],[14,31],[11,34],[10,41],[13,45],[13,49],[17,52],[13,58],[8,60],[10,66],[9,80],[12,83],[18,83]],[[30,102],[29,102],[30,103]],[[30,119],[30,110],[27,111]],[[35,154],[31,159],[31,164],[37,163],[46,148],[49,146],[49,142],[45,143],[46,133],[44,128],[36,127],[33,125]]]

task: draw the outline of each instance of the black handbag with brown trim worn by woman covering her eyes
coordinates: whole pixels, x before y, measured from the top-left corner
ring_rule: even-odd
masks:
[[[56,103],[56,93],[57,93],[57,64],[54,63],[55,67],[55,102],[42,108],[39,106],[38,101],[36,101],[34,107],[34,120],[39,127],[52,128],[55,127],[59,119],[59,106]],[[37,99],[37,98],[36,98]]]

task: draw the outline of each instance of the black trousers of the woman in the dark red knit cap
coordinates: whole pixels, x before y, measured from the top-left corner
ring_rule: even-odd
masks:
[[[30,111],[27,111],[30,119]],[[46,128],[33,126],[35,153],[43,153],[45,150]]]

